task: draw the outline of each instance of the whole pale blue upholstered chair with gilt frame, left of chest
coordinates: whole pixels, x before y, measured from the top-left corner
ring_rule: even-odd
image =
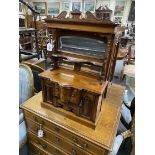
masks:
[[[31,69],[24,64],[19,66],[19,105],[34,95],[33,74]],[[19,149],[27,141],[27,131],[23,111],[19,109]]]

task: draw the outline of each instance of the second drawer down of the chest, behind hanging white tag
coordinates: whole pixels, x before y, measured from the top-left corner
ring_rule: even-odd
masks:
[[[37,131],[39,129],[39,125],[27,119],[28,131],[34,133],[37,136]],[[70,155],[90,155],[85,150],[75,146],[64,138],[60,137],[57,134],[47,131],[46,129],[42,129],[44,132],[44,136],[40,139],[43,139],[50,144],[64,150],[67,154]]]

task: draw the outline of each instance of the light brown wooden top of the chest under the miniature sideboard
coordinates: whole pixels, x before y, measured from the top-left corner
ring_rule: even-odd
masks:
[[[85,138],[102,148],[111,150],[120,119],[121,100],[124,87],[112,84],[108,88],[107,98],[103,100],[102,113],[95,129],[82,125],[58,113],[41,107],[42,93],[27,100],[21,108],[32,112],[45,120]]]

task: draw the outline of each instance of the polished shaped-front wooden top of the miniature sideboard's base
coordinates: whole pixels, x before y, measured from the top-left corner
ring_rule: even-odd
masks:
[[[55,70],[47,70],[40,74],[41,77],[57,82],[63,86],[72,86],[77,89],[86,89],[90,92],[102,94],[108,82],[101,84],[100,80],[80,75],[79,72],[59,68]]]

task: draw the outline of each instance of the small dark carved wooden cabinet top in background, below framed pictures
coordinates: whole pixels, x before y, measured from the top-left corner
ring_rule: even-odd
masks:
[[[98,19],[109,19],[111,18],[112,10],[110,10],[107,6],[100,6],[95,10],[95,15]]]

